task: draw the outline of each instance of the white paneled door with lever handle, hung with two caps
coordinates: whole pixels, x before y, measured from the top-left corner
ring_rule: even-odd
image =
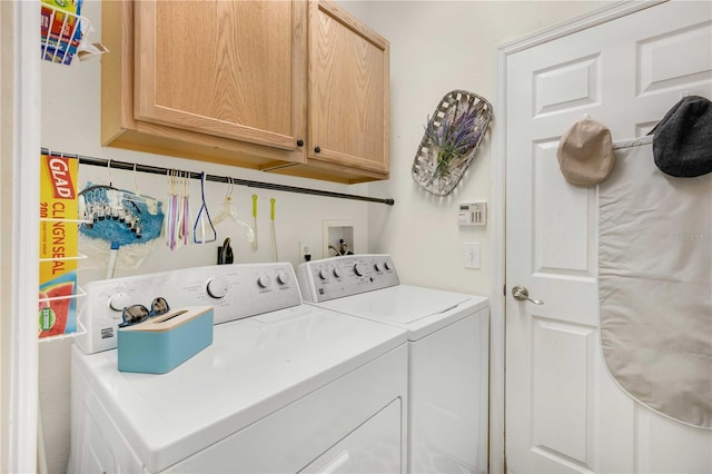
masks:
[[[647,134],[684,95],[712,97],[712,2],[650,6],[513,52],[505,68],[507,470],[712,472],[712,432],[639,405],[606,372],[596,188],[568,185],[556,160],[584,113],[616,141]],[[544,304],[516,300],[516,285]]]

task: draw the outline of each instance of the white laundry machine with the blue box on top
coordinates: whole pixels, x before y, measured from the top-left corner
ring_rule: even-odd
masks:
[[[301,304],[289,264],[85,286],[70,473],[406,472],[406,333]],[[214,306],[212,344],[172,371],[117,369],[120,308]]]

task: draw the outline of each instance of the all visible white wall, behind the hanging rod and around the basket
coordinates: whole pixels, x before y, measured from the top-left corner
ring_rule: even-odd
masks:
[[[83,13],[100,38],[100,4],[85,0]],[[253,251],[236,227],[218,227],[219,241],[233,237],[237,261],[269,261],[269,220],[267,203],[277,199],[277,234],[280,260],[297,264],[299,240],[322,245],[324,219],[349,219],[356,225],[356,253],[393,254],[403,280],[433,287],[490,295],[488,228],[461,229],[456,224],[458,203],[490,200],[492,137],[483,142],[463,184],[445,198],[435,198],[419,190],[411,178],[411,166],[423,126],[441,98],[452,89],[466,89],[486,97],[494,106],[493,132],[497,132],[496,48],[506,41],[555,24],[586,11],[603,7],[603,2],[445,2],[445,1],[343,1],[343,6],[390,41],[390,179],[388,181],[340,186],[307,179],[288,178],[241,168],[207,165],[156,155],[103,148],[99,144],[100,63],[97,60],[76,62],[71,67],[42,65],[42,146],[58,151],[138,161],[161,167],[205,170],[233,176],[280,182],[300,187],[317,187],[348,194],[394,197],[396,205],[364,204],[314,196],[253,190],[236,187],[234,199],[240,216],[251,218],[253,192],[259,196],[258,250]],[[135,189],[130,171],[112,170],[113,186]],[[164,198],[166,179],[138,175],[142,194]],[[106,169],[82,166],[79,186],[87,181],[107,182]],[[222,201],[225,185],[209,184],[207,200],[210,209]],[[198,182],[191,185],[192,211],[197,214]],[[215,213],[214,210],[212,213]],[[482,269],[465,269],[463,244],[482,246]],[[139,268],[118,268],[116,276],[150,273],[214,263],[216,246],[194,246],[171,253],[162,241]],[[108,247],[108,244],[107,244]],[[83,263],[80,283],[103,277],[103,258]],[[71,342],[55,340],[40,345],[40,402],[47,440],[50,472],[66,470],[70,436],[70,365]]]

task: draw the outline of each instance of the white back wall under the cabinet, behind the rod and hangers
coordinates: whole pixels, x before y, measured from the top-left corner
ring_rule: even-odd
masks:
[[[89,39],[100,39],[101,4],[97,0],[85,0],[82,14],[89,18],[97,31]],[[110,52],[109,52],[110,53]],[[366,195],[365,185],[345,186],[303,178],[248,170],[245,168],[217,166],[198,161],[168,158],[157,155],[134,152],[101,147],[100,130],[100,75],[101,65],[92,59],[85,62],[73,61],[70,67],[42,63],[42,146],[52,150],[79,154],[129,162],[140,162],[181,170],[201,171],[217,176],[256,181],[277,182],[305,188],[317,188],[337,192]],[[88,181],[108,184],[134,190],[136,188],[132,171],[111,170],[95,166],[81,166],[79,189]],[[161,176],[137,174],[136,180],[141,194],[165,199],[168,194],[167,179]],[[211,216],[219,211],[228,186],[208,182],[207,203]],[[247,243],[245,234],[237,225],[224,223],[217,226],[218,243],[225,237],[231,238],[236,263],[271,261],[269,199],[276,198],[276,234],[279,260],[298,264],[298,243],[312,244],[315,258],[322,257],[322,236],[324,220],[347,220],[355,226],[354,243],[349,243],[355,253],[368,251],[368,204],[356,200],[335,199],[310,195],[297,195],[236,186],[233,201],[243,220],[251,224],[251,195],[258,195],[258,249],[255,251]],[[200,185],[198,180],[190,187],[192,217],[198,214]],[[161,271],[174,268],[212,265],[216,260],[218,243],[195,245],[170,251],[164,240],[156,240],[151,251],[138,268],[117,267],[116,277],[132,274]],[[102,251],[96,246],[80,245],[80,251],[92,258],[81,260],[80,284],[101,279],[106,275],[109,243],[100,243]],[[121,254],[121,250],[119,250]],[[119,257],[121,260],[121,257]],[[121,263],[119,260],[119,263]],[[40,344],[40,403],[44,435],[47,438],[48,466],[51,473],[63,472],[69,456],[70,441],[70,346],[69,340],[51,340]]]

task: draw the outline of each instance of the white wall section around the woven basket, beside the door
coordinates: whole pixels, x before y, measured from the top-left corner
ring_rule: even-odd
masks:
[[[369,246],[393,254],[405,283],[491,295],[487,228],[457,226],[457,204],[491,201],[497,47],[611,2],[602,1],[347,1],[345,6],[390,41],[390,179],[372,184],[393,208],[373,207]],[[453,89],[493,105],[492,134],[461,185],[443,198],[422,190],[411,167],[427,117]],[[466,269],[465,243],[479,243],[482,268]]]

